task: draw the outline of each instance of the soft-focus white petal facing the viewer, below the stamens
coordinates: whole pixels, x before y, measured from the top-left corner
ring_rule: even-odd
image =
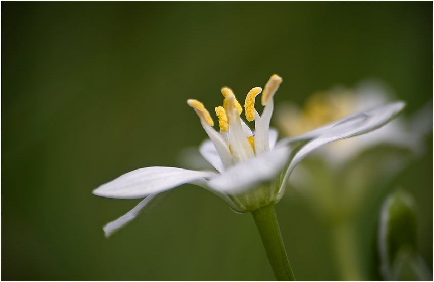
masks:
[[[266,152],[239,163],[224,174],[213,178],[208,186],[228,194],[237,194],[257,184],[273,179],[281,172],[289,157],[286,147]]]

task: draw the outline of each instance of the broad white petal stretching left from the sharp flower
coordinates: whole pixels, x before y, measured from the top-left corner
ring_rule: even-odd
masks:
[[[160,193],[195,180],[209,179],[215,175],[218,174],[178,167],[145,167],[102,184],[92,193],[106,198],[140,199],[149,194]]]

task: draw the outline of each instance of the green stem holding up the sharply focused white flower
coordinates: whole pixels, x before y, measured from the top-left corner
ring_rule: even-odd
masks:
[[[252,215],[261,235],[262,243],[264,244],[268,261],[276,276],[276,280],[295,281],[288,256],[286,255],[285,246],[283,245],[274,204],[269,204],[253,211]]]

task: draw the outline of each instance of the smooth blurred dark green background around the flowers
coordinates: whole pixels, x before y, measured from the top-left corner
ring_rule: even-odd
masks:
[[[432,99],[432,2],[2,2],[2,280],[273,280],[250,214],[184,185],[110,239],[140,200],[92,189],[135,168],[179,166],[208,109],[277,73],[276,103],[375,77]],[[432,103],[432,102],[430,102]],[[432,135],[390,186],[418,203],[432,270]],[[339,279],[329,233],[301,196],[276,206],[299,280]],[[379,208],[360,220],[369,246]],[[367,267],[367,266],[366,266]]]

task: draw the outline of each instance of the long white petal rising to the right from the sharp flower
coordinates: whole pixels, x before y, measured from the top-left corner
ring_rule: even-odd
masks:
[[[282,187],[285,187],[289,175],[291,174],[294,167],[312,151],[327,143],[348,138],[351,136],[365,134],[375,129],[378,129],[383,125],[387,124],[393,118],[395,118],[403,110],[404,107],[404,102],[388,104],[382,107],[349,116],[339,122],[311,131],[295,139],[286,139],[282,143],[279,142],[278,147],[284,144],[290,146],[291,143],[294,143],[297,140],[312,138],[309,143],[303,146],[294,155],[294,158],[291,160],[291,163],[286,172]]]

